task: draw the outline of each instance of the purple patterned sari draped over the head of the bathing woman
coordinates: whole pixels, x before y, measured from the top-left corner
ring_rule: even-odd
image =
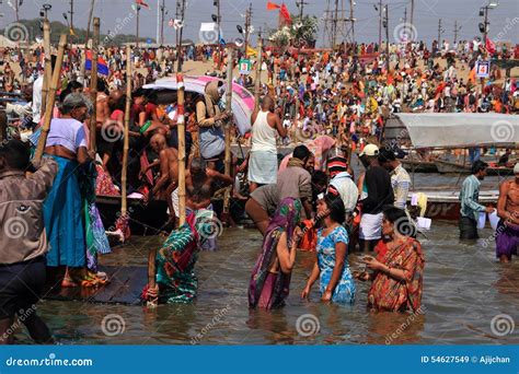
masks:
[[[276,210],[265,233],[262,253],[251,274],[249,307],[260,306],[270,309],[285,304],[289,292],[290,274],[281,270],[274,273],[269,269],[273,267],[273,261],[277,260],[276,249],[284,232],[287,233],[290,248],[290,239],[300,221],[300,215],[301,202],[292,198],[285,198]]]

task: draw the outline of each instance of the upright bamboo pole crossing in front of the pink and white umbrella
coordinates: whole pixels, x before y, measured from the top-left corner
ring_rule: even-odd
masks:
[[[186,127],[184,118],[184,75],[176,73],[177,112],[176,130],[178,131],[178,225],[186,222]]]

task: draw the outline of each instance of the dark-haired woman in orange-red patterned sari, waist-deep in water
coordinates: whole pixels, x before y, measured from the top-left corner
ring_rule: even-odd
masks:
[[[412,223],[405,212],[390,207],[383,211],[384,242],[377,246],[377,258],[366,256],[367,267],[359,280],[372,280],[368,308],[385,312],[416,312],[420,307],[424,254],[418,241],[407,236]]]

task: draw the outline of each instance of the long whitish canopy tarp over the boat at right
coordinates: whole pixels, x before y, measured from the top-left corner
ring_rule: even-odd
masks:
[[[388,119],[387,141],[411,138],[415,148],[515,147],[519,116],[497,113],[397,114]]]

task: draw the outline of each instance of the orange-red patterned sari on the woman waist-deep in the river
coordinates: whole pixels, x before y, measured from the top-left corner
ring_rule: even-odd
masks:
[[[404,270],[406,280],[399,281],[384,272],[376,272],[368,293],[368,307],[373,311],[416,312],[422,303],[424,254],[419,242],[408,237],[393,249],[377,257],[382,264]]]

